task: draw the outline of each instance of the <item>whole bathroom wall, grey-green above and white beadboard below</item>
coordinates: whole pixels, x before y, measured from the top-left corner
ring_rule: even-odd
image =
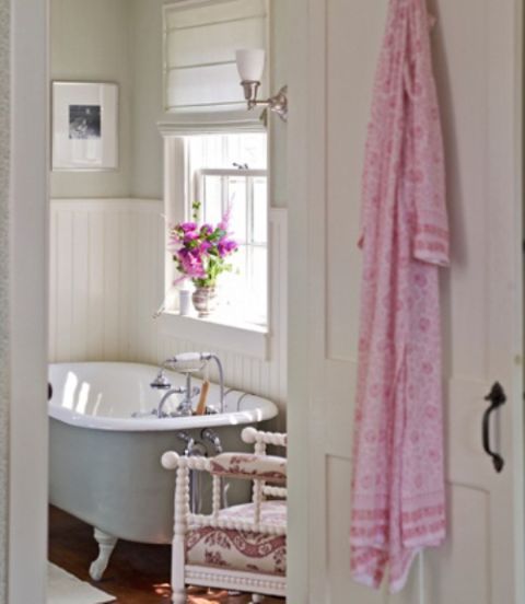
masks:
[[[156,126],[165,117],[164,3],[52,0],[52,76],[119,82],[122,163],[116,173],[52,173],[51,361],[159,362],[177,351],[210,348],[206,341],[165,336],[152,320],[164,287],[159,201],[163,195],[163,141]],[[285,2],[271,3],[277,89],[285,82]],[[285,131],[284,124],[278,118],[272,120],[270,201],[277,208],[287,205]],[[284,251],[280,254],[273,263],[276,269],[285,263]],[[275,295],[279,299],[272,301],[270,359],[235,353],[228,342],[218,352],[230,385],[269,396],[283,406],[285,287],[276,290]]]

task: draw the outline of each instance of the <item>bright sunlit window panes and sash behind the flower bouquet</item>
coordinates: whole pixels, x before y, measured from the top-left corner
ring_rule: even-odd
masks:
[[[234,323],[268,323],[268,176],[265,133],[186,137],[188,191],[186,218],[194,201],[201,218],[217,224],[230,212],[238,243],[233,270],[220,277],[218,314]]]

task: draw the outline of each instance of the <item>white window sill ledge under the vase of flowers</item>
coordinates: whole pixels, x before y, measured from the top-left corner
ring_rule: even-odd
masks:
[[[268,329],[260,325],[235,323],[232,318],[221,315],[180,315],[176,311],[163,312],[159,321],[161,332],[166,336],[268,360],[269,334]]]

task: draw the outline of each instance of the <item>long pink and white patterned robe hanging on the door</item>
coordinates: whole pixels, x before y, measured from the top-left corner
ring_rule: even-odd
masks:
[[[445,537],[439,267],[444,156],[424,0],[390,0],[369,126],[351,571],[392,592]]]

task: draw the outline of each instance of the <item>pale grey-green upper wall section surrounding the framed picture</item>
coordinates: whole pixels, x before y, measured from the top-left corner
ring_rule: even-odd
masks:
[[[131,178],[131,61],[128,0],[51,0],[51,80],[116,82],[119,166],[52,172],[52,197],[126,197]]]

